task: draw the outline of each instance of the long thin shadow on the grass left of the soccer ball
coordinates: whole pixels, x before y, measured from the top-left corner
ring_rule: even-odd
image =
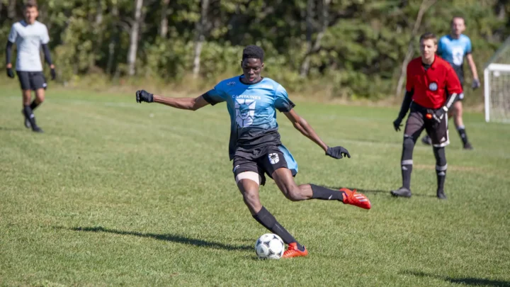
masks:
[[[254,247],[248,245],[232,245],[232,244],[224,244],[220,242],[199,240],[196,238],[184,237],[181,235],[173,235],[173,234],[154,234],[154,233],[142,233],[142,232],[134,232],[134,231],[123,231],[123,230],[115,230],[108,229],[101,226],[96,227],[73,227],[70,228],[74,231],[85,231],[85,232],[108,232],[114,233],[118,235],[133,235],[138,237],[146,237],[152,238],[155,240],[164,240],[170,242],[177,242],[181,244],[190,244],[198,247],[208,247],[212,249],[225,249],[225,250],[250,250],[252,251]]]

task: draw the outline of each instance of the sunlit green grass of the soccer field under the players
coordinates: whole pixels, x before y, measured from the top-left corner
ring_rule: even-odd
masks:
[[[228,160],[224,104],[191,113],[133,96],[48,91],[23,127],[21,96],[0,93],[1,286],[510,286],[510,125],[465,115],[455,130],[448,201],[435,198],[432,150],[416,145],[410,199],[400,186],[395,108],[297,103],[334,160],[278,115],[297,182],[356,187],[372,210],[293,203],[269,181],[261,200],[307,246],[260,261]]]

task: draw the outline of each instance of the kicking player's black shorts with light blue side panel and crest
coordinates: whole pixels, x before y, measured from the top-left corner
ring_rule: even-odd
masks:
[[[235,177],[244,172],[244,171],[254,171],[259,174],[260,184],[263,186],[266,184],[266,176],[267,174],[271,179],[273,178],[272,174],[276,169],[285,168],[290,169],[292,175],[295,176],[297,174],[297,166],[295,166],[295,162],[292,162],[289,166],[289,163],[285,159],[285,154],[278,147],[270,147],[266,152],[260,154],[256,157],[246,156],[247,154],[235,154],[234,161],[232,162],[234,169],[234,179]],[[290,159],[291,161],[293,159]]]

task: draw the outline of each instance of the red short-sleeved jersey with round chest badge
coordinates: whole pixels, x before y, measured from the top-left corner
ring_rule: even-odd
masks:
[[[462,93],[462,86],[451,65],[437,56],[429,69],[423,67],[421,57],[409,62],[406,89],[414,91],[412,100],[424,108],[441,108],[448,94]]]

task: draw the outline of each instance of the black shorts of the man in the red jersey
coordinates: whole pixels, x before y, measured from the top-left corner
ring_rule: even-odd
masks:
[[[418,139],[423,130],[432,140],[434,147],[446,147],[450,144],[448,138],[448,115],[443,116],[441,123],[436,122],[433,118],[426,118],[427,113],[433,113],[436,110],[424,108],[417,103],[411,103],[411,113],[407,118],[404,138],[412,137],[414,142]]]

